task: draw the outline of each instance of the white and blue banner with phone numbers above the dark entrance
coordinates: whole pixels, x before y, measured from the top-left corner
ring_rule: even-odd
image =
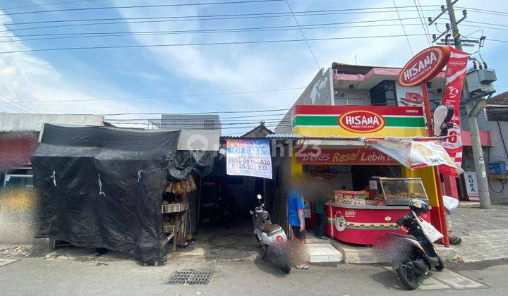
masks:
[[[226,173],[272,179],[272,156],[268,140],[226,141]]]

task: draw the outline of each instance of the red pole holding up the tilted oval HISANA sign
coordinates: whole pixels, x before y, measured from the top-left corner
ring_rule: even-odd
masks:
[[[430,116],[430,103],[428,97],[427,90],[427,82],[423,82],[421,84],[422,92],[423,92],[423,111],[425,112],[425,118],[427,119],[427,136],[433,136],[433,125],[432,125],[432,116]],[[441,178],[438,171],[437,166],[433,166],[436,190],[437,190],[437,203],[439,204],[437,213],[437,218],[440,222],[440,230],[444,235],[442,238],[444,247],[449,247],[448,240],[448,226],[446,221],[446,213],[444,212],[444,203],[442,199],[442,188],[441,188]]]

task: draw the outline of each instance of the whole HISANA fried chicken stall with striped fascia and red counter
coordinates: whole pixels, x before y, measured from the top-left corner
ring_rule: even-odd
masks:
[[[386,233],[405,233],[395,222],[410,199],[439,208],[431,163],[447,157],[455,165],[439,142],[425,138],[421,107],[296,106],[291,125],[291,175],[303,175],[308,185],[300,187],[310,187],[304,199],[327,201],[330,237],[373,245]],[[423,218],[436,222],[432,212]]]

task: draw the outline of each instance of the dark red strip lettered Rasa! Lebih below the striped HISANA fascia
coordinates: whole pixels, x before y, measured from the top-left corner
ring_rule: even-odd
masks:
[[[399,164],[392,157],[376,150],[356,149],[306,149],[296,154],[298,164]]]

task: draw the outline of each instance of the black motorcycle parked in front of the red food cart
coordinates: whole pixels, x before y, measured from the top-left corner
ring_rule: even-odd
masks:
[[[409,290],[418,288],[418,278],[428,273],[429,269],[435,268],[437,271],[444,269],[444,264],[437,250],[416,220],[421,214],[429,210],[428,204],[413,199],[409,208],[411,212],[397,220],[397,226],[405,227],[409,230],[407,235],[398,233],[389,233],[388,235],[399,238],[411,246],[409,252],[401,254],[397,259],[392,259],[392,267],[397,271],[397,275],[402,284]]]

